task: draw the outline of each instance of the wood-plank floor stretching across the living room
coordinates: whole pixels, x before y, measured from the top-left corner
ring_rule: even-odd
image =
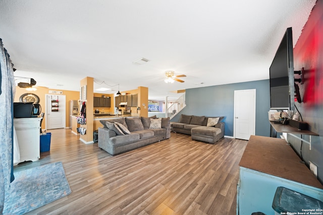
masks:
[[[168,140],[112,157],[71,129],[51,132],[50,152],[14,171],[63,163],[72,193],[26,214],[236,214],[246,140],[215,145],[172,133]]]

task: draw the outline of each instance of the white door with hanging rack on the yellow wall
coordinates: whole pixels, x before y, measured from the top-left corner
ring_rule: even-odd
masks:
[[[46,94],[46,129],[65,128],[66,96]]]

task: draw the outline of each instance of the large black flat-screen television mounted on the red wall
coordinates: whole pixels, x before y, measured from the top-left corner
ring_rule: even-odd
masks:
[[[269,69],[269,74],[271,109],[294,110],[292,28],[287,28]]]

